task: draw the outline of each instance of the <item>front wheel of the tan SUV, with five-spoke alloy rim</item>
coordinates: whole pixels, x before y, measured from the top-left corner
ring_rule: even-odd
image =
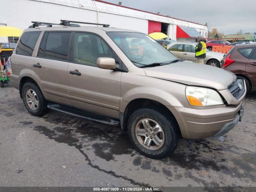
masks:
[[[131,114],[128,120],[128,134],[138,152],[149,158],[164,158],[168,154],[172,154],[178,144],[175,122],[174,118],[170,118],[163,110],[142,108]],[[149,124],[149,126],[146,127],[144,124]],[[151,129],[154,126],[160,126],[160,128],[156,128],[154,131]],[[157,133],[157,130],[162,130],[162,132]],[[149,144],[148,147],[144,144],[146,139],[146,144]]]

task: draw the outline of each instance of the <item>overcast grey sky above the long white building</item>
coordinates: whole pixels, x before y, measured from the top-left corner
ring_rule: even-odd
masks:
[[[105,0],[174,18],[208,23],[209,29],[234,34],[256,32],[256,0]],[[197,3],[198,2],[198,3]]]

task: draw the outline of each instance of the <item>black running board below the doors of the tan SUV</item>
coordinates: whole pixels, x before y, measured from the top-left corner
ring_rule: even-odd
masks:
[[[70,114],[70,115],[73,115],[76,117],[92,120],[95,122],[113,125],[113,126],[120,126],[120,121],[118,119],[112,119],[107,116],[94,114],[92,112],[87,112],[87,111],[72,108],[69,106],[55,104],[55,103],[49,103],[47,105],[47,107],[52,110],[60,111],[60,112],[66,113],[66,114]]]

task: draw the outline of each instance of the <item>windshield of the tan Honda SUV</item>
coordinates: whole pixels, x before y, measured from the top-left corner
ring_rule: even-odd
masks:
[[[108,32],[107,34],[137,67],[153,63],[169,63],[177,59],[166,48],[145,34],[134,32]]]

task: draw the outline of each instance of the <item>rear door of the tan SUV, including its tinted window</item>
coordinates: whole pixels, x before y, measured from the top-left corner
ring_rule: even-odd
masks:
[[[33,70],[38,75],[46,98],[71,106],[68,93],[68,63],[72,32],[44,32]]]

